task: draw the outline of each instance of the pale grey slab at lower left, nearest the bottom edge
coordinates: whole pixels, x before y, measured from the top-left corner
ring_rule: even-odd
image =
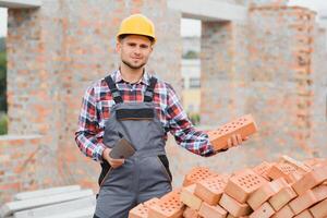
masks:
[[[27,209],[23,211],[17,211],[14,214],[15,218],[44,218],[62,214],[69,214],[84,208],[95,207],[96,196],[84,197],[80,199],[74,199],[71,202],[64,202],[60,204],[53,204],[49,206]]]

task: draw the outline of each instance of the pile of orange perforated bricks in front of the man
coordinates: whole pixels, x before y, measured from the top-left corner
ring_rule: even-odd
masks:
[[[194,168],[183,187],[140,204],[130,218],[326,218],[327,160],[283,156],[232,174]]]

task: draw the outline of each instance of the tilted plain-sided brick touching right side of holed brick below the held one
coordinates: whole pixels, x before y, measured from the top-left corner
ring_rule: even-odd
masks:
[[[264,202],[268,201],[272,195],[277,194],[288,183],[283,178],[279,178],[271,182],[267,182],[250,195],[247,204],[253,210],[257,209]]]

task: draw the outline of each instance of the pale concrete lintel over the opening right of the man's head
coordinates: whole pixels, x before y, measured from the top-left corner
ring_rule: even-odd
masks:
[[[247,14],[246,7],[217,0],[168,0],[168,7],[181,11],[183,17],[202,21],[244,22]]]

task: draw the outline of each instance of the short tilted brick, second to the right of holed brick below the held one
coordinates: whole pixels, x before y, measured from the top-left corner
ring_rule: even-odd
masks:
[[[287,205],[291,199],[295,198],[298,195],[291,185],[282,187],[277,194],[269,198],[269,203],[272,208],[278,211],[284,205]]]

